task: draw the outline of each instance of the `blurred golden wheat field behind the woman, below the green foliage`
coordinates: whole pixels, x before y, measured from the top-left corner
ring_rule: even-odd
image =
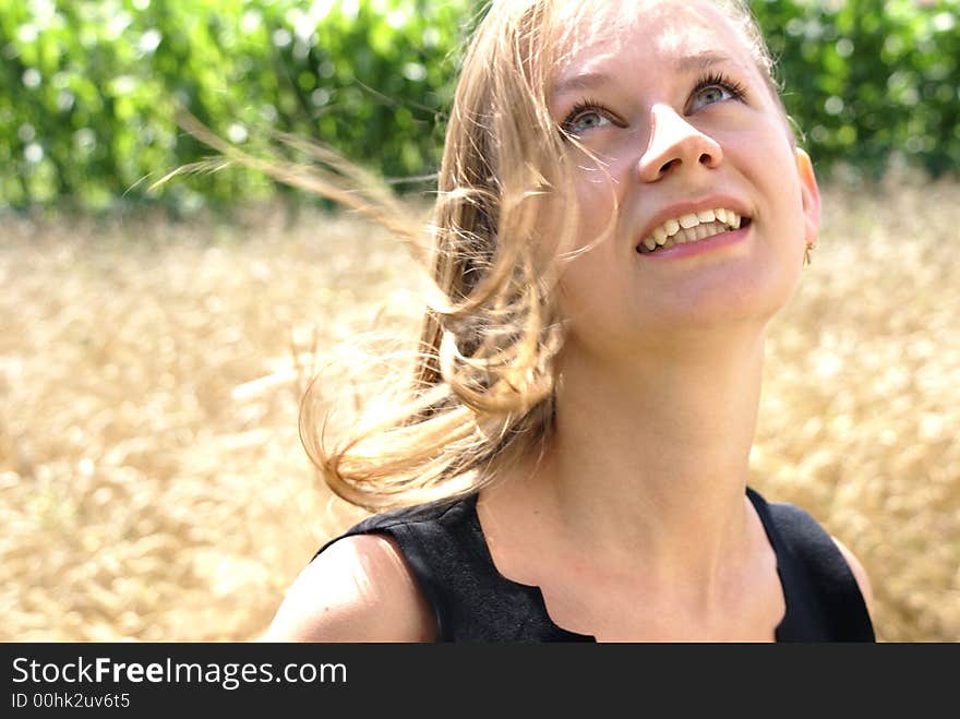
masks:
[[[824,200],[751,484],[860,556],[881,640],[960,640],[960,185]],[[298,400],[344,339],[413,325],[406,250],[262,208],[5,217],[0,239],[0,639],[256,638],[362,516],[319,482]]]

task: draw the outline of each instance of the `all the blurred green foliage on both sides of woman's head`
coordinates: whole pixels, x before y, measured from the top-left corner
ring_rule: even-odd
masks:
[[[187,107],[243,143],[320,140],[391,178],[435,171],[478,0],[7,0],[0,206],[179,208],[290,192],[230,169],[151,182],[208,151]],[[960,164],[960,0],[755,0],[821,172]]]

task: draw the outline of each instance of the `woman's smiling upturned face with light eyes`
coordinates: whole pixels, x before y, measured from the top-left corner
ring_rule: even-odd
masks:
[[[614,221],[564,271],[569,343],[635,356],[766,324],[796,286],[819,200],[747,40],[709,1],[596,4],[549,95],[599,160],[567,144],[579,244]]]

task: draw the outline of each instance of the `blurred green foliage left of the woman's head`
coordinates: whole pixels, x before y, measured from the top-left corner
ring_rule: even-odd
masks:
[[[154,202],[209,151],[182,106],[233,142],[321,140],[388,177],[439,163],[466,0],[13,0],[0,13],[0,205]],[[190,208],[284,187],[231,169],[165,185]]]

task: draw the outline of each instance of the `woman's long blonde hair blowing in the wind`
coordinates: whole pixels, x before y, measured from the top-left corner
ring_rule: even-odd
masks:
[[[308,170],[216,144],[228,157],[385,225],[429,273],[412,371],[388,375],[387,392],[333,445],[322,375],[301,403],[308,455],[329,488],[355,505],[379,511],[476,491],[501,463],[537,450],[550,434],[554,360],[564,340],[554,290],[564,261],[602,240],[575,248],[576,203],[563,202],[573,196],[563,144],[572,139],[548,109],[549,81],[588,4],[489,4],[463,61],[425,241],[423,228],[375,178],[328,151],[288,137],[323,164]],[[772,60],[746,4],[718,4],[739,23],[779,98]],[[541,221],[548,214],[561,228],[549,237]]]

